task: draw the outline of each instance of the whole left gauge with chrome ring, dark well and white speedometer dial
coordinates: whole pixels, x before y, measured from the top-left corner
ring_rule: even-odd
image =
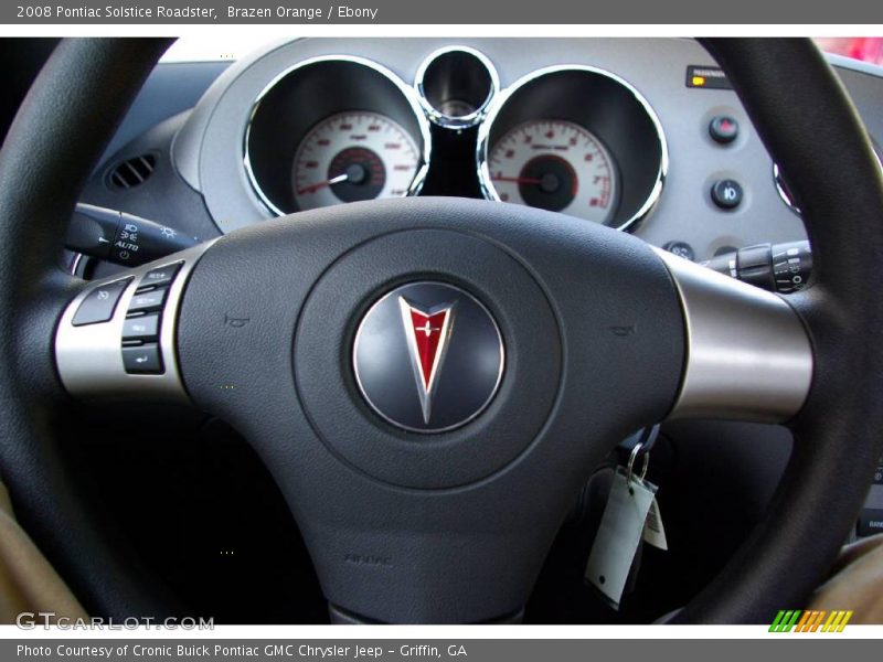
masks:
[[[284,215],[415,195],[429,143],[413,88],[370,60],[322,56],[290,67],[258,96],[245,169],[267,209]]]

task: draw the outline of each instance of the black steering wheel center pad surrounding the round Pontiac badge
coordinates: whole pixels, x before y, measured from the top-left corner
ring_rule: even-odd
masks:
[[[506,345],[490,406],[430,436],[372,412],[351,363],[365,310],[422,280],[482,301]],[[671,408],[685,342],[645,243],[449,199],[317,210],[220,239],[190,277],[178,338],[188,392],[262,453],[329,600],[421,622],[522,608],[591,468]]]

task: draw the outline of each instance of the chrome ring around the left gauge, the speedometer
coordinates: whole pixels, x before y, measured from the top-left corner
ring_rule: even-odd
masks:
[[[287,67],[286,70],[281,71],[260,90],[260,94],[258,94],[257,97],[255,97],[255,100],[252,103],[252,108],[248,113],[248,120],[246,121],[245,130],[243,132],[242,153],[243,153],[243,169],[245,170],[246,179],[252,188],[252,191],[255,193],[255,195],[257,195],[260,203],[266,207],[267,212],[269,212],[274,216],[285,216],[286,214],[292,212],[283,211],[276,203],[273,202],[273,200],[270,200],[270,197],[266,194],[263,186],[260,185],[260,182],[258,181],[258,178],[255,173],[255,169],[252,163],[252,154],[249,153],[249,140],[252,137],[253,122],[255,116],[260,109],[260,105],[266,99],[267,95],[269,95],[276,88],[276,86],[279,83],[281,83],[281,81],[287,78],[289,75],[308,66],[313,66],[323,63],[334,63],[334,62],[345,62],[350,64],[364,66],[371,70],[373,73],[380,74],[381,76],[385,77],[390,83],[393,84],[393,86],[403,96],[404,100],[406,102],[407,106],[409,107],[411,111],[414,115],[416,126],[419,130],[419,140],[422,142],[422,145],[418,147],[417,150],[419,154],[417,170],[415,171],[414,178],[411,181],[411,185],[408,186],[407,192],[405,193],[405,195],[403,195],[403,197],[407,197],[409,195],[417,195],[423,189],[423,184],[426,181],[426,174],[429,170],[429,162],[433,152],[432,131],[429,129],[429,121],[426,118],[426,115],[424,114],[424,110],[421,106],[419,99],[417,98],[415,89],[412,86],[407,85],[394,72],[368,57],[360,57],[357,55],[319,55],[316,57],[309,57],[307,60],[297,62],[291,66]],[[341,108],[340,110],[341,111],[371,110],[383,115],[382,110],[376,110],[373,108]]]

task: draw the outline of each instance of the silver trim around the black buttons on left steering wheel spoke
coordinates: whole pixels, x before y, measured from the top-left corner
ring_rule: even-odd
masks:
[[[55,330],[55,365],[65,389],[74,397],[100,401],[163,401],[189,403],[178,366],[178,316],[187,281],[199,259],[216,239],[175,253],[109,278],[89,282],[62,314]],[[135,290],[151,269],[182,261],[169,286],[162,308],[159,345],[166,372],[128,374],[123,366],[123,323]],[[107,322],[74,327],[73,319],[83,300],[97,287],[132,278],[117,301]]]

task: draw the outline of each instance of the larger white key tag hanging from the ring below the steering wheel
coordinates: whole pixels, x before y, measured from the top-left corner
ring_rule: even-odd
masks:
[[[637,477],[629,480],[625,469],[617,467],[585,570],[585,578],[614,609],[619,609],[656,489]]]

